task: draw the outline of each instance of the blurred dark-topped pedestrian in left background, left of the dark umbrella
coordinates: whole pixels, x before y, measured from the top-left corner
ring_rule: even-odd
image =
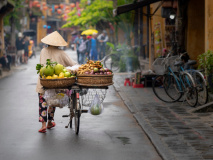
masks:
[[[22,38],[23,35],[21,32],[18,33],[18,38],[16,39],[16,63],[21,64],[24,63],[24,58],[22,57],[24,55],[24,39]]]

